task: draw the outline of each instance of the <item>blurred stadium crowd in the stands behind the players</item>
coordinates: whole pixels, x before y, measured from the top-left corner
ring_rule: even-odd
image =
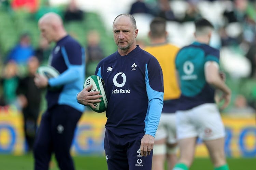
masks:
[[[18,107],[16,89],[28,73],[28,58],[35,56],[41,65],[47,64],[52,45],[40,37],[37,21],[49,11],[61,15],[69,34],[85,47],[87,76],[116,51],[112,21],[118,14],[134,16],[142,48],[149,42],[153,17],[167,20],[168,40],[180,47],[194,40],[194,19],[204,17],[215,27],[210,45],[221,50],[221,70],[232,90],[230,106],[222,113],[255,114],[254,0],[0,0],[0,105]]]

